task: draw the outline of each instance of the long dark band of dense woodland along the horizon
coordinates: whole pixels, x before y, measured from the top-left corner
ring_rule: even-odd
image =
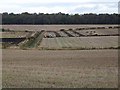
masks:
[[[3,24],[119,24],[118,14],[2,13]]]

